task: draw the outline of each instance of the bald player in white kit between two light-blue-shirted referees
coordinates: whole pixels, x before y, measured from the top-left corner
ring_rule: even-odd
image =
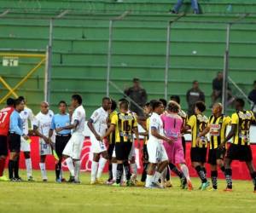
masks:
[[[35,135],[39,136],[39,155],[40,155],[40,170],[42,180],[47,181],[45,160],[46,156],[52,154],[50,140],[49,140],[49,128],[54,117],[54,112],[49,110],[48,102],[43,101],[40,105],[41,111],[38,112],[34,119],[33,130]]]

